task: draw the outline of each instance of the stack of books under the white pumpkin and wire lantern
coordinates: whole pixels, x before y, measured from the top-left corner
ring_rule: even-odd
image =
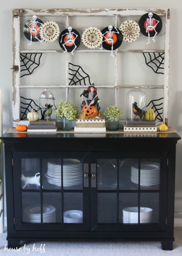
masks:
[[[27,132],[56,132],[56,121],[30,121]]]

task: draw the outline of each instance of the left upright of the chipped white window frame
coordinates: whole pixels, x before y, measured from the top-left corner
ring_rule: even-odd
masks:
[[[18,72],[13,71],[13,121],[20,118],[20,17],[13,17],[13,65],[19,67]]]

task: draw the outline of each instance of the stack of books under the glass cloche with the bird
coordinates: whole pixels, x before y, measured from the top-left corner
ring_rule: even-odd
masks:
[[[124,132],[157,132],[156,121],[147,120],[127,120],[125,122]]]

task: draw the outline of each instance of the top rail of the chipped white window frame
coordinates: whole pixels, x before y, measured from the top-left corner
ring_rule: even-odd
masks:
[[[167,9],[13,9],[13,15],[19,16],[140,16],[148,12],[165,15]]]

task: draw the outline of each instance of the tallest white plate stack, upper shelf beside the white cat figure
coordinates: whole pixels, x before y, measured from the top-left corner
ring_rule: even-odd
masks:
[[[63,186],[69,187],[82,183],[82,163],[78,159],[63,159]],[[61,186],[61,159],[47,163],[47,182]]]

